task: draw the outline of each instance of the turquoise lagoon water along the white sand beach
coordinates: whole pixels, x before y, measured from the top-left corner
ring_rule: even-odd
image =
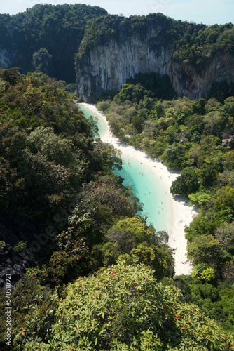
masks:
[[[98,115],[88,110],[88,108],[82,106],[79,109],[85,114],[86,118],[89,118],[90,115],[97,118],[97,126],[99,135],[101,136],[106,128],[104,121],[99,119]],[[157,178],[151,173],[144,164],[130,158],[124,152],[121,158],[123,169],[121,171],[115,170],[114,173],[124,179],[123,185],[132,187],[132,192],[144,204],[143,212],[139,214],[145,216],[147,223],[152,223],[156,231],[168,231],[172,216],[170,199],[166,194],[162,182],[160,182],[160,178]],[[156,167],[160,167],[160,163],[156,164]]]

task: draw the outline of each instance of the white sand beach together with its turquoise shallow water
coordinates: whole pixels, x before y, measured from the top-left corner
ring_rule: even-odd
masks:
[[[133,192],[137,197],[138,192],[142,192],[144,200],[141,201],[144,204],[149,201],[149,211],[151,211],[149,219],[156,227],[156,231],[166,230],[168,232],[168,244],[174,249],[175,274],[190,274],[192,266],[187,258],[184,227],[191,223],[194,216],[198,216],[198,208],[189,204],[188,197],[173,197],[170,193],[172,182],[179,176],[179,171],[170,170],[160,159],[153,159],[145,152],[126,143],[121,143],[111,133],[104,112],[97,110],[95,105],[87,103],[78,105],[81,106],[81,110],[85,108],[86,111],[90,112],[90,115],[96,116],[102,121],[99,131],[101,140],[120,150],[123,162],[127,166],[130,166],[130,161],[133,162],[134,166],[131,167],[130,171],[127,170],[126,177],[142,176],[141,185],[135,191],[133,189]],[[125,185],[125,183],[123,184]],[[154,184],[158,184],[157,194],[154,192]],[[153,207],[154,204],[156,207]],[[157,223],[160,225],[158,226]]]

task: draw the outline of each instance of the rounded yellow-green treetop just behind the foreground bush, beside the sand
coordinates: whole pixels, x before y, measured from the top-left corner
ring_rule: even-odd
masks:
[[[168,235],[154,233],[139,217],[125,218],[113,225],[106,234],[102,247],[104,263],[116,263],[124,258],[130,263],[144,263],[155,270],[155,277],[172,277],[174,274],[172,250],[167,246]],[[126,262],[127,262],[126,261]]]

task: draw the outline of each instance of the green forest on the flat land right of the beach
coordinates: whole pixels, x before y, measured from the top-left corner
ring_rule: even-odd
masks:
[[[180,168],[171,193],[200,206],[186,227],[193,274],[179,277],[184,298],[233,331],[234,98],[158,100],[139,83],[100,101],[113,133],[168,168]],[[229,306],[229,307],[228,307]]]

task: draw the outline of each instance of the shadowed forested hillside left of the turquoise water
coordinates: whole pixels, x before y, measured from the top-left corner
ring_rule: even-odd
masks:
[[[118,152],[96,138],[64,81],[15,68],[1,69],[0,77],[1,288],[6,274],[18,283],[12,340],[14,350],[26,350],[28,340],[48,341],[47,324],[56,320],[47,319],[45,286],[64,296],[69,282],[122,256],[149,264],[158,279],[174,268],[167,234],[137,216],[139,200],[111,172],[121,167]],[[2,289],[1,350],[4,304]]]

